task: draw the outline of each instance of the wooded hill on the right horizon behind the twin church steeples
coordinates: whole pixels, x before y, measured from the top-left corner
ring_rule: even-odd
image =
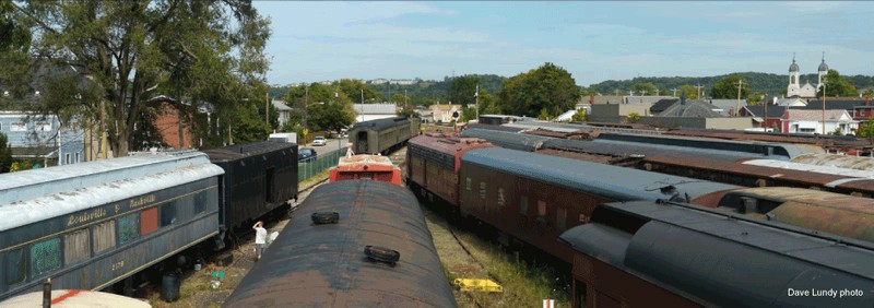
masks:
[[[743,73],[732,73],[737,74],[744,78],[747,82],[749,82],[749,90],[751,93],[767,93],[768,96],[780,96],[781,94],[786,93],[786,87],[789,85],[789,75],[780,75],[780,74],[770,74],[770,73],[756,73],[756,72],[743,72]],[[670,76],[670,78],[635,78],[631,80],[607,80],[600,83],[595,83],[590,85],[588,88],[595,90],[603,95],[613,95],[617,91],[619,95],[628,95],[628,90],[631,88],[631,85],[636,83],[652,83],[659,88],[669,90],[669,94],[673,94],[670,92],[673,88],[676,88],[680,85],[688,84],[688,85],[702,85],[705,93],[710,93],[710,88],[713,84],[722,78],[725,78],[730,74],[724,75],[717,75],[717,76],[700,76],[700,78],[688,78],[688,76]],[[851,83],[855,85],[857,88],[866,88],[874,86],[874,76],[866,76],[866,75],[852,75],[852,76],[845,76]],[[805,82],[810,82],[814,86],[817,83],[816,74],[802,74],[801,75],[801,84],[804,85]]]

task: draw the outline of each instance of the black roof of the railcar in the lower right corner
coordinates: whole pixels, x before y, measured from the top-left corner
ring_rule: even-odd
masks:
[[[599,222],[598,211],[637,220],[640,226],[619,232],[610,226],[611,222]],[[615,215],[610,217],[617,220]],[[870,304],[872,295],[867,293],[874,291],[874,247],[863,241],[694,206],[646,201],[603,204],[592,221],[565,232],[560,239],[575,250],[594,253],[708,305],[814,305],[810,300],[822,300],[787,297],[789,287],[861,288],[867,297],[855,304]],[[590,236],[604,228],[624,235],[601,232],[610,236]],[[602,244],[616,246],[605,242],[611,240],[624,242],[624,248],[600,248]],[[845,300],[842,305],[853,305],[850,299]]]

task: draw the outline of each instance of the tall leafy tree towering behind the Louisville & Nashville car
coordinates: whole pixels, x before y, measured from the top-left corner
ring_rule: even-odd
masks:
[[[87,110],[82,122],[98,123],[105,115],[109,145],[118,156],[127,155],[135,123],[149,108],[150,98],[160,94],[210,102],[224,123],[252,116],[243,110],[247,106],[234,105],[239,97],[264,97],[263,74],[269,62],[263,48],[270,21],[260,16],[250,1],[34,1],[11,5],[33,33],[29,52],[35,61],[74,68],[80,79],[91,84],[87,90],[98,99],[76,102]]]

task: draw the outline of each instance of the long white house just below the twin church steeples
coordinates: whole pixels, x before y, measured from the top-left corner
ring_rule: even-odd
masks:
[[[830,109],[825,112],[826,133],[838,128],[843,133],[855,133],[859,121],[853,120],[845,109]],[[780,119],[782,132],[823,133],[823,110],[788,109]]]

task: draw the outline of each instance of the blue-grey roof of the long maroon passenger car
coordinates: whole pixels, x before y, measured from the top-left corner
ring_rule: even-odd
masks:
[[[675,194],[695,199],[716,191],[740,188],[500,147],[472,150],[461,156],[461,159],[463,163],[487,166],[574,190],[592,191],[614,200],[668,200]]]

